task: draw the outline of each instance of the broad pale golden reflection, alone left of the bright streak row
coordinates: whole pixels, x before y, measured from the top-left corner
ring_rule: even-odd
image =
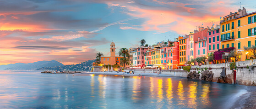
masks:
[[[137,102],[136,100],[142,99],[142,91],[141,91],[141,78],[137,76],[133,76],[133,87],[132,87],[132,99],[134,102]]]

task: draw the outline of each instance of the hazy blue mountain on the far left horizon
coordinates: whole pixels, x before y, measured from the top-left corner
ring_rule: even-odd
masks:
[[[38,61],[34,63],[16,63],[16,64],[7,64],[7,65],[0,65],[0,70],[35,70],[42,67],[53,67],[53,66],[64,66],[60,62],[56,60],[51,61]]]

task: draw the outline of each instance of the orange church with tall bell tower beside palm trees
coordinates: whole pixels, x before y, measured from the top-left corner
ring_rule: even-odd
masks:
[[[115,55],[115,44],[114,42],[112,42],[110,44],[110,56],[102,56],[100,58],[101,63],[103,65],[107,65],[107,64],[120,64],[120,59],[123,58],[123,56],[119,56],[119,55]]]

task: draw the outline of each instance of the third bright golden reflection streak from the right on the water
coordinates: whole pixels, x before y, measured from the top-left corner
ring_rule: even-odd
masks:
[[[184,97],[184,90],[183,90],[183,85],[181,81],[179,81],[179,84],[178,84],[177,95],[178,95],[178,105],[184,106],[185,97]]]

